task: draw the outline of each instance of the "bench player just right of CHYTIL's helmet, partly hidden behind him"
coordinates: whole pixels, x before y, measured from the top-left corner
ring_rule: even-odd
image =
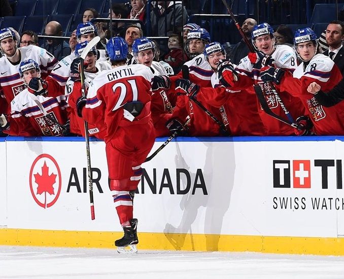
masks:
[[[146,37],[136,39],[132,43],[131,50],[137,63],[149,67],[154,76],[167,76],[165,68],[159,62],[153,61],[155,48],[151,40]],[[170,113],[173,112],[173,107],[176,105],[175,94],[169,93],[167,95],[166,90],[163,88],[155,88],[154,86],[152,88],[156,89],[153,91],[151,102],[155,135],[157,137],[167,136],[169,131],[165,123],[170,118]],[[170,97],[172,97],[172,100],[170,100]]]

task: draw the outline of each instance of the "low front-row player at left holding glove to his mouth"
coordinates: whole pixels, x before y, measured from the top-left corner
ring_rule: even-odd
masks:
[[[0,126],[7,126],[12,136],[61,136],[63,128],[58,123],[67,121],[64,95],[46,97],[47,84],[32,59],[20,63],[19,75],[28,87],[12,100],[11,114],[7,118],[2,114]],[[4,119],[8,121],[5,125]]]

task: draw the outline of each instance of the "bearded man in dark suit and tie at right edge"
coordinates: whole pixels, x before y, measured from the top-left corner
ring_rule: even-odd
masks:
[[[326,28],[326,43],[329,48],[324,55],[329,56],[344,76],[344,22],[339,20],[331,21]]]

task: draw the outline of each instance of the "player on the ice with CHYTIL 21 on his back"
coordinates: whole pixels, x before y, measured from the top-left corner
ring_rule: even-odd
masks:
[[[141,164],[150,152],[154,140],[151,120],[151,69],[141,64],[126,66],[128,45],[123,38],[111,38],[107,52],[112,70],[94,78],[88,89],[87,100],[79,99],[79,115],[92,125],[105,123],[106,154],[110,190],[114,199],[124,236],[115,241],[118,251],[139,242],[137,219],[133,219],[132,199],[142,175]]]

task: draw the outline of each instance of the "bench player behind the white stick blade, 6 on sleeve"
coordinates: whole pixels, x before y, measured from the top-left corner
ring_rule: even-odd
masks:
[[[84,48],[87,46],[88,41],[79,43],[75,47],[75,55],[80,57]],[[71,65],[71,77],[68,78],[65,86],[65,96],[67,98],[67,112],[70,119],[71,133],[85,136],[84,119],[77,115],[77,100],[81,97],[81,77],[79,73],[80,59],[74,59]],[[97,60],[97,50],[95,47],[87,54],[85,60],[85,88],[89,87],[92,80],[101,73],[101,71],[110,70],[111,65],[107,61]],[[105,129],[100,131],[97,127],[89,125],[89,135],[104,139]]]

